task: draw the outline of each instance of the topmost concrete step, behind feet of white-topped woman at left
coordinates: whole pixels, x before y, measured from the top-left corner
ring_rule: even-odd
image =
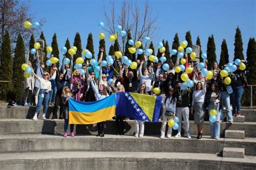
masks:
[[[35,114],[36,107],[0,107],[0,118],[13,118],[13,119],[23,119],[23,118],[32,118]],[[47,118],[52,117],[53,107],[48,107],[46,114]],[[41,107],[40,112],[43,112]],[[59,116],[59,111],[57,111]],[[246,122],[256,122],[256,110],[253,109],[242,109],[241,115],[245,116],[244,121]],[[224,114],[226,117],[226,114]],[[42,118],[42,114],[39,114],[39,118]],[[193,115],[190,115],[190,120],[193,120]],[[233,117],[234,122],[242,122],[242,117]],[[205,116],[205,121],[208,121],[208,115]]]

